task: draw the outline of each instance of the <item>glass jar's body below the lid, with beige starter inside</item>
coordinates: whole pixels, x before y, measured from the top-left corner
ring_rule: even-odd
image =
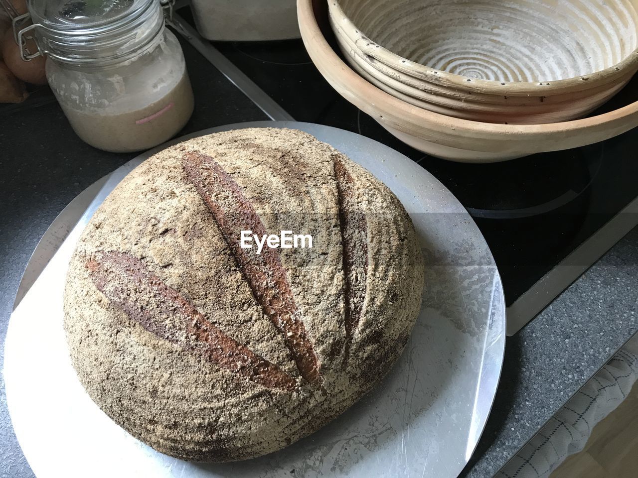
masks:
[[[174,34],[165,31],[164,37],[127,64],[98,71],[47,62],[49,82],[82,140],[105,151],[145,150],[172,138],[188,122],[193,91],[186,64]]]

